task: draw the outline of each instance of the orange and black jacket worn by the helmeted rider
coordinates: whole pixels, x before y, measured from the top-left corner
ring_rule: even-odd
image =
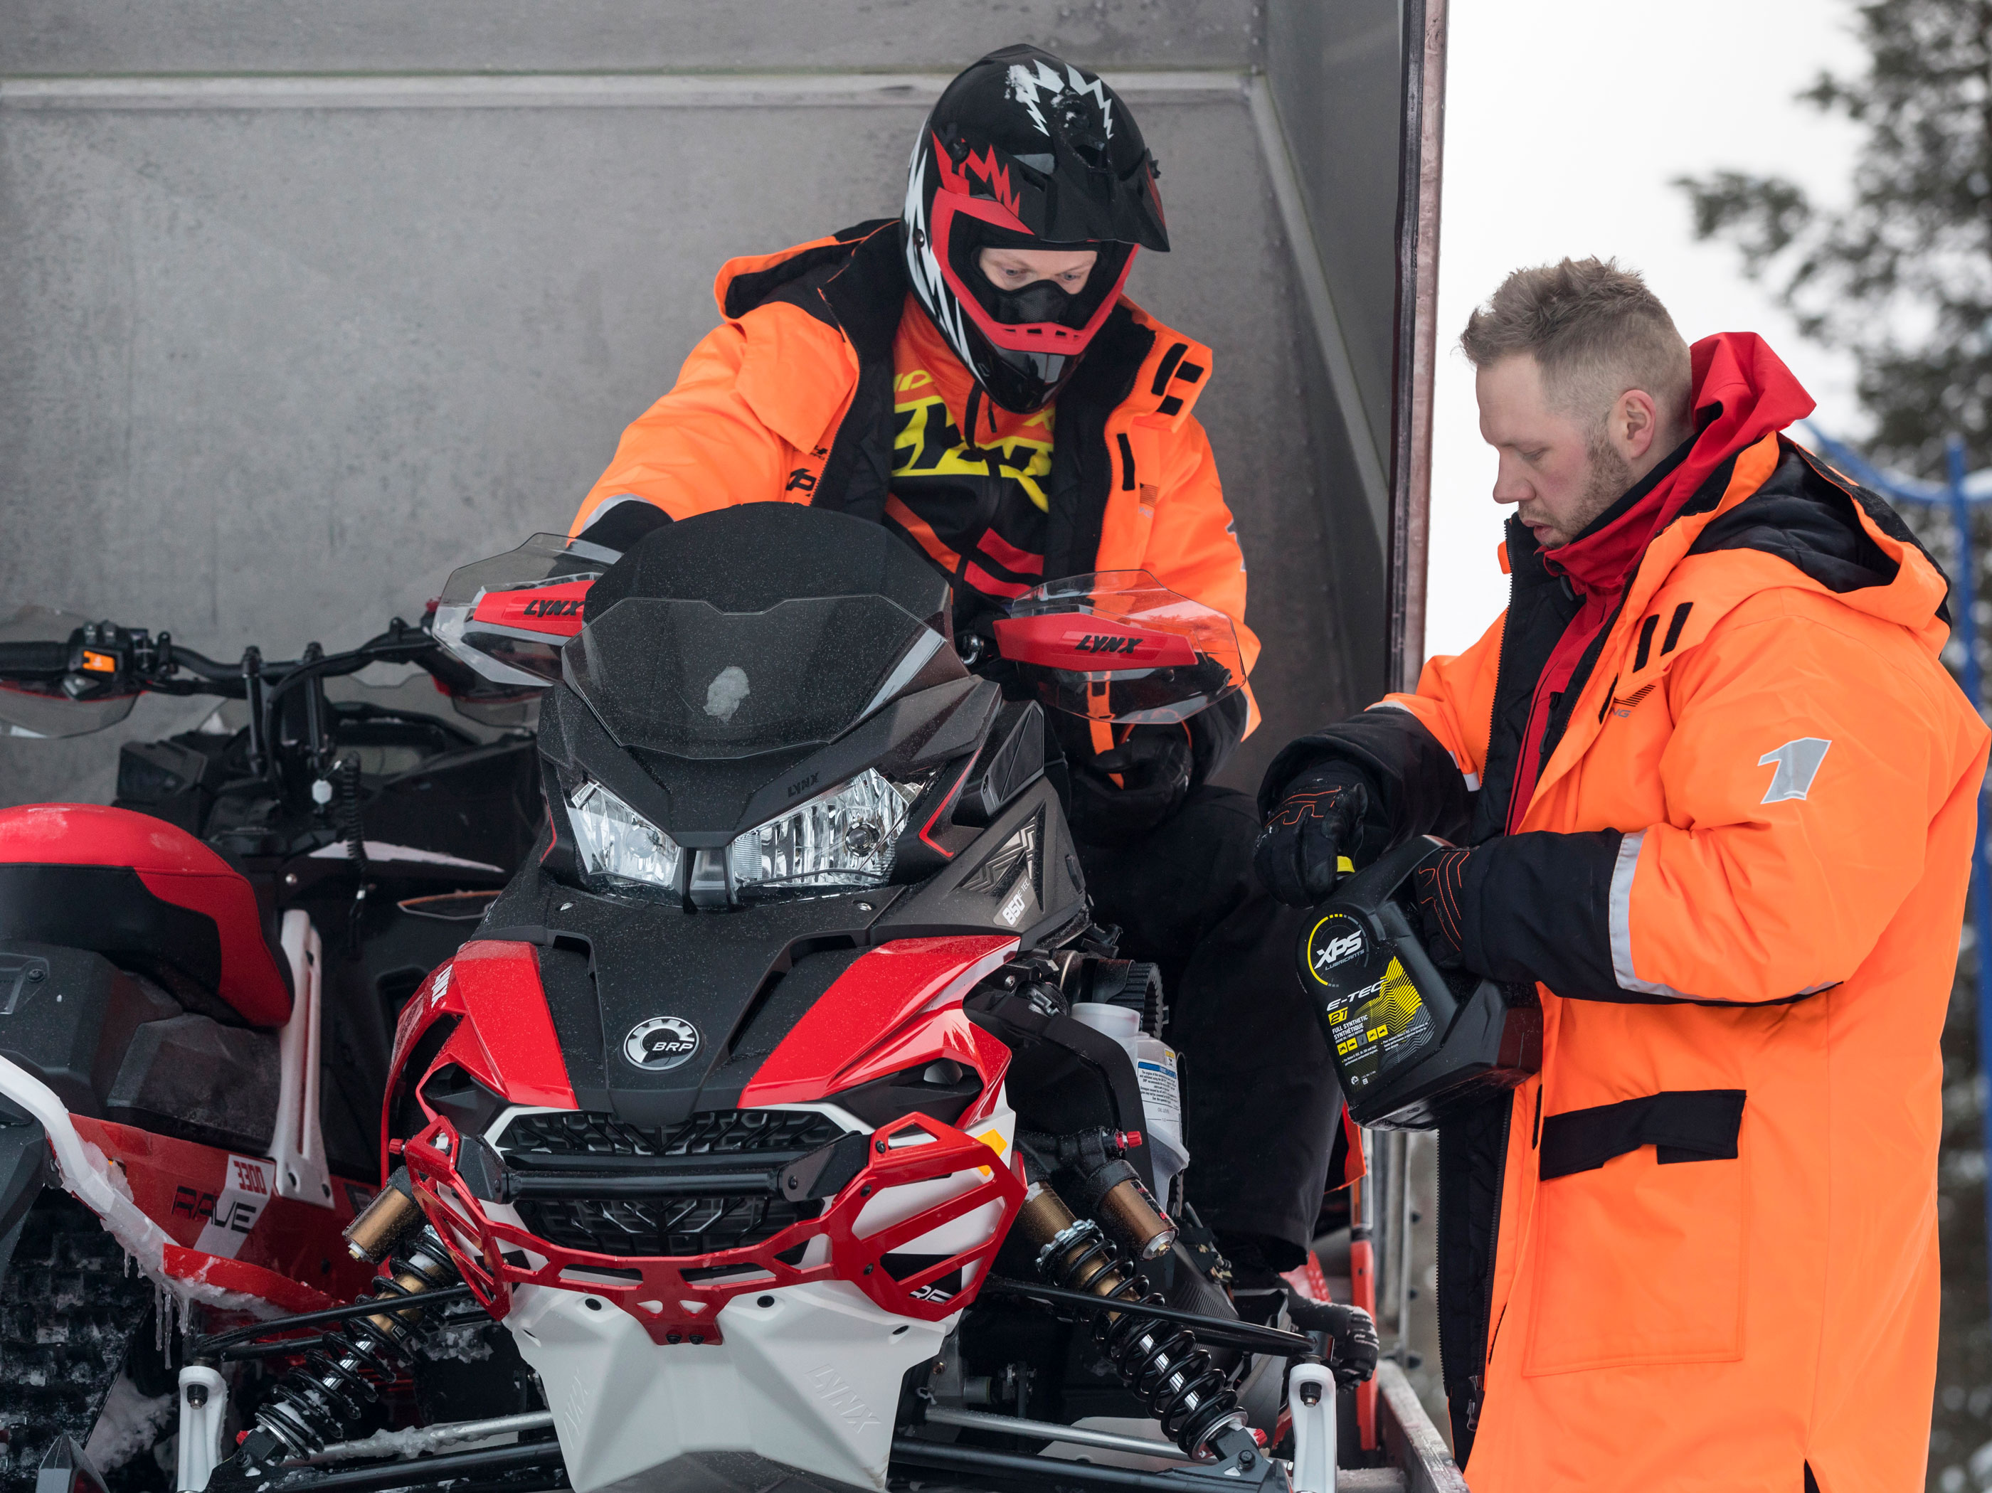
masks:
[[[623,432],[570,533],[622,498],[671,518],[783,500],[878,520],[906,297],[898,221],[729,259],[713,295],[725,320]],[[1145,569],[1227,613],[1251,669],[1259,639],[1245,627],[1245,557],[1191,414],[1209,366],[1207,346],[1121,297],[1058,402],[1044,573]]]

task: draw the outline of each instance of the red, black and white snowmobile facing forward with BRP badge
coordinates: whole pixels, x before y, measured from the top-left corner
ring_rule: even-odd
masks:
[[[948,609],[789,504],[450,579],[434,637],[544,691],[546,822],[396,1023],[347,1228],[378,1274],[189,1344],[181,1487],[1335,1485],[1374,1332],[1231,1308],[1163,991],[1090,916],[1048,752],[1046,709],[1239,689],[1233,627],[1056,581],[976,641],[998,681]],[[510,1370],[390,1423],[466,1314]],[[291,1368],[245,1407],[251,1356]]]

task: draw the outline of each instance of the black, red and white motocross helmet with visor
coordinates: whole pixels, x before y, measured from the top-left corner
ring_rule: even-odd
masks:
[[[948,84],[906,171],[912,291],[1006,410],[1058,398],[1120,301],[1137,247],[1167,253],[1155,157],[1112,88],[1034,46]],[[1096,249],[1086,289],[1002,291],[984,249]]]

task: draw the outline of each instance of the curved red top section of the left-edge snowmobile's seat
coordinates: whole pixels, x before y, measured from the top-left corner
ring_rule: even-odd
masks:
[[[221,936],[215,991],[263,1027],[291,1019],[291,987],[269,944],[249,882],[181,828],[102,804],[0,808],[0,864],[129,866],[161,902],[213,920]]]

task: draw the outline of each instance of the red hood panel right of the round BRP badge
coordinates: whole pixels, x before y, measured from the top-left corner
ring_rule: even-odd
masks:
[[[962,997],[974,983],[1014,952],[1016,938],[1002,934],[902,938],[869,950],[769,1053],[741,1089],[741,1109],[825,1099],[867,1077],[906,1067],[918,1055],[956,1057],[980,1071],[984,1065],[976,1061],[968,1037],[954,1033],[952,1025],[946,1033],[968,1055],[928,1051],[922,1047],[928,1039],[902,1033],[900,1027],[928,1005],[952,1005],[958,1015]],[[960,1025],[966,1027],[966,1021]],[[928,1045],[944,1039],[936,1029]]]

